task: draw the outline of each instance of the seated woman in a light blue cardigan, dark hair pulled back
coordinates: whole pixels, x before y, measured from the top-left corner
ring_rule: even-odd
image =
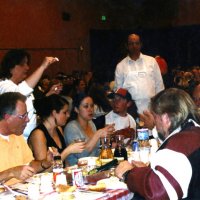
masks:
[[[90,96],[79,94],[73,100],[75,120],[70,121],[64,129],[66,144],[72,143],[77,138],[86,139],[86,147],[82,153],[70,154],[67,161],[70,165],[77,164],[81,157],[99,156],[99,139],[110,135],[114,131],[114,125],[96,130],[92,122],[94,114],[94,103]]]

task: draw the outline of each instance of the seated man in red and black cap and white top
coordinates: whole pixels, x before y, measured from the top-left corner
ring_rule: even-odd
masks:
[[[134,118],[127,113],[127,109],[132,103],[130,93],[126,89],[119,88],[115,93],[112,93],[111,96],[113,97],[113,110],[105,116],[106,124],[115,124],[115,130],[118,131],[119,134],[120,130],[126,128],[136,130]]]

